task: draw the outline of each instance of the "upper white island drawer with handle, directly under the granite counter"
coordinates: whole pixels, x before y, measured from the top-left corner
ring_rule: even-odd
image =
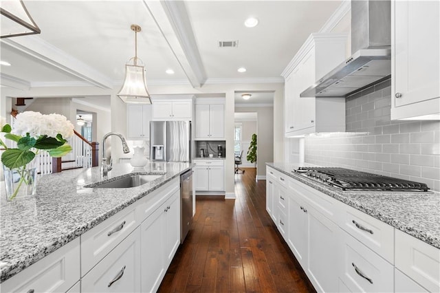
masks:
[[[135,211],[135,205],[124,208],[81,235],[82,276],[139,225],[136,221]]]

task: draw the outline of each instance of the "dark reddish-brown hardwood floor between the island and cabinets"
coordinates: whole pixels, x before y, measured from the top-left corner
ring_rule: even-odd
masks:
[[[236,199],[197,196],[192,228],[159,292],[314,292],[265,206],[254,168],[235,175]]]

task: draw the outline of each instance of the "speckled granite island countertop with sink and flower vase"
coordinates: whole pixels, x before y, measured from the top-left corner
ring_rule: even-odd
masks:
[[[6,202],[4,184],[0,182],[0,283],[192,166],[152,162],[138,171],[130,164],[113,164],[106,181],[128,173],[163,174],[133,188],[85,188],[104,180],[99,167],[43,175],[37,179],[34,198],[15,202]]]

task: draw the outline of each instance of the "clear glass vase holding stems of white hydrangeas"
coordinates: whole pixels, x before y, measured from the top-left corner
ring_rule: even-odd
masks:
[[[36,161],[36,160],[34,160]],[[8,201],[34,197],[36,188],[36,162],[9,169],[3,165],[6,199]]]

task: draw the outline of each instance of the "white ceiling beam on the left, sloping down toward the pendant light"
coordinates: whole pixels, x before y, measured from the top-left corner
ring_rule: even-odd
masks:
[[[39,36],[2,39],[1,42],[5,45],[9,45],[15,50],[19,50],[24,54],[28,54],[44,63],[52,65],[63,72],[67,72],[81,80],[85,80],[88,83],[91,83],[91,85],[107,89],[113,88],[113,82],[110,78],[98,72],[83,61],[59,50],[50,43],[47,43]]]

